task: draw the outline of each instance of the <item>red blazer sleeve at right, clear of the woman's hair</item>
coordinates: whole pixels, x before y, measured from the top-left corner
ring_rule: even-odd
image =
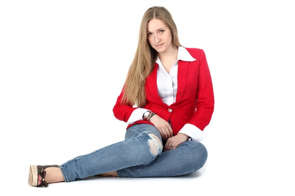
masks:
[[[198,91],[196,112],[188,123],[197,126],[202,131],[209,124],[214,110],[214,94],[211,75],[203,49],[200,54],[200,67],[198,77]]]

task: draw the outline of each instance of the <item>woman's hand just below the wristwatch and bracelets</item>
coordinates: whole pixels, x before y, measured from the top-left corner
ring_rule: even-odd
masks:
[[[153,115],[150,118],[150,123],[153,123],[153,125],[157,127],[157,129],[161,133],[162,139],[168,140],[168,138],[171,138],[173,136],[173,131],[170,124],[161,117],[159,117],[157,114]]]

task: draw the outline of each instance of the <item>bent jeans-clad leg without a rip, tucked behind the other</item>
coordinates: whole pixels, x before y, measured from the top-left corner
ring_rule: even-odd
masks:
[[[164,143],[165,145],[165,143]],[[207,160],[206,147],[197,141],[186,141],[175,149],[162,152],[148,165],[117,171],[118,177],[168,177],[195,172]]]

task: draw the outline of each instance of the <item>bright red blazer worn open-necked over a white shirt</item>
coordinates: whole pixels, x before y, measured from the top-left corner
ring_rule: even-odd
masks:
[[[169,106],[159,97],[156,83],[157,63],[155,63],[152,73],[148,75],[145,86],[147,104],[143,108],[155,112],[167,122],[170,119],[175,135],[186,123],[193,124],[203,131],[209,124],[214,110],[212,80],[204,50],[196,48],[185,49],[197,60],[192,62],[178,60],[175,103]],[[137,107],[120,104],[123,88],[118,96],[113,112],[118,120],[127,122],[131,113]],[[137,123],[152,124],[148,121],[137,121],[128,124],[126,129]]]

